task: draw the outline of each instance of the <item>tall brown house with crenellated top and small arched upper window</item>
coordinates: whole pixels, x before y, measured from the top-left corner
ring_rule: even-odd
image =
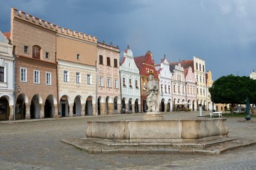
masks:
[[[11,8],[15,59],[16,119],[57,115],[55,25]]]

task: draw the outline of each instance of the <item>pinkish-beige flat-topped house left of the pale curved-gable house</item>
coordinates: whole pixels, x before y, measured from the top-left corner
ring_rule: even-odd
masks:
[[[119,48],[98,42],[97,54],[97,114],[121,113]]]

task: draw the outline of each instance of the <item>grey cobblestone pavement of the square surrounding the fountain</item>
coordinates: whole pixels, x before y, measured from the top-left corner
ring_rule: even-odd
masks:
[[[165,113],[165,118],[197,115]],[[217,155],[89,154],[60,142],[84,137],[87,120],[142,118],[129,114],[0,122],[0,169],[256,169],[256,145]],[[240,120],[228,118],[229,137],[256,139],[256,123]]]

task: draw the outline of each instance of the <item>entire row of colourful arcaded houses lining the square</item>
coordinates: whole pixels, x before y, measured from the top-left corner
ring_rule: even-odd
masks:
[[[11,31],[0,32],[0,120],[140,113],[145,84],[159,82],[160,111],[213,109],[205,61],[155,64],[118,47],[11,8]]]

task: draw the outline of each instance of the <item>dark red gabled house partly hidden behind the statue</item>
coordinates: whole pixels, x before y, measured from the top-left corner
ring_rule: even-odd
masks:
[[[134,57],[134,61],[138,69],[140,70],[140,101],[141,111],[146,112],[148,110],[147,106],[147,95],[145,86],[148,84],[148,76],[152,74],[154,76],[155,81],[159,82],[157,70],[155,69],[155,62],[152,59],[152,53],[150,51],[146,52],[145,55],[140,57]]]

